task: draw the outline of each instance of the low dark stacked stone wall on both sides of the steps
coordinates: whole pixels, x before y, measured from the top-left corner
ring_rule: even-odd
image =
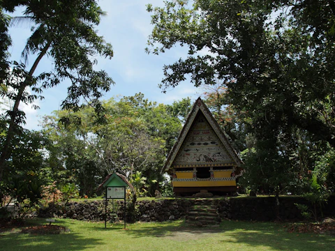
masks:
[[[199,200],[199,199],[198,199]],[[143,222],[166,220],[179,220],[185,218],[195,199],[159,199],[153,201],[137,201],[136,210],[130,219],[129,213],[126,220],[140,220]],[[277,202],[279,206],[276,207]],[[306,204],[312,208],[304,198],[301,197],[232,197],[218,199],[204,199],[204,203],[217,206],[217,213],[222,219],[231,220],[302,220],[301,213],[296,203]],[[335,216],[335,197],[330,197],[322,211],[324,216]],[[112,201],[107,204],[107,220],[114,217],[111,213],[117,213],[120,220],[124,218],[124,201],[115,200],[114,210]],[[317,212],[320,216],[320,211]],[[66,203],[50,204],[47,208],[40,209],[40,217],[71,218],[76,220],[105,220],[105,201],[68,201]]]

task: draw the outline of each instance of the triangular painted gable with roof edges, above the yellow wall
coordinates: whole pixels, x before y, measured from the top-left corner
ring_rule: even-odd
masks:
[[[203,154],[202,154],[203,153]],[[241,160],[201,98],[193,108],[163,167],[234,166]]]

